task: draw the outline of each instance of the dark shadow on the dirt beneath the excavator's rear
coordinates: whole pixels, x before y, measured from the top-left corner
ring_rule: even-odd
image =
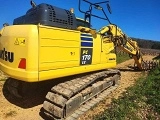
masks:
[[[68,79],[69,78],[65,77],[43,82],[27,83],[27,91],[25,95],[23,94],[22,98],[17,98],[9,92],[7,88],[7,82],[9,81],[9,79],[7,79],[3,85],[2,91],[4,97],[10,103],[21,108],[32,108],[34,106],[43,104],[47,92],[50,91],[53,86]]]

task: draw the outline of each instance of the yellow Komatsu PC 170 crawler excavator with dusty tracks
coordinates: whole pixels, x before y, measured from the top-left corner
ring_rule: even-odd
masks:
[[[89,4],[81,10],[81,2]],[[24,83],[52,81],[74,76],[59,82],[48,91],[43,113],[51,119],[76,119],[98,103],[119,85],[120,71],[116,68],[115,47],[127,52],[143,70],[143,59],[135,41],[112,24],[101,4],[79,0],[84,19],[73,12],[53,5],[36,5],[25,15],[14,19],[0,31],[0,70],[10,76],[8,91],[18,98]],[[92,8],[105,17],[92,14]],[[109,22],[99,31],[91,28],[91,18]],[[21,94],[23,93],[23,94]]]

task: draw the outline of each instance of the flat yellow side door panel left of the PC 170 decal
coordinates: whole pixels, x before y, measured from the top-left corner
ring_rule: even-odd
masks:
[[[39,70],[78,66],[79,32],[39,27]]]

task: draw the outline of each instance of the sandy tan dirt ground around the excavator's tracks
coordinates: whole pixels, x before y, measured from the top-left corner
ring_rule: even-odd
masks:
[[[144,60],[151,60],[153,56],[144,56]],[[126,90],[127,87],[132,86],[137,78],[142,75],[142,72],[133,71],[128,68],[128,65],[133,65],[134,60],[128,60],[117,65],[121,71],[121,83],[119,87],[112,92],[104,100],[103,103],[97,105],[82,115],[79,120],[89,120],[93,115],[99,114],[106,109],[112,98],[118,98]],[[8,93],[5,93],[4,81],[1,80],[5,75],[0,72],[0,120],[39,120],[41,119],[39,111],[43,106],[46,91],[38,88],[35,94],[32,94],[27,99],[16,100],[13,99]]]

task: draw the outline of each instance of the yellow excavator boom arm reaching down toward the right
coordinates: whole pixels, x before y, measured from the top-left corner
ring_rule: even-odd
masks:
[[[104,26],[99,30],[99,33],[103,37],[110,36],[115,47],[118,47],[124,52],[128,53],[130,57],[135,60],[135,64],[137,65],[138,69],[143,69],[143,58],[137,42],[127,37],[127,35],[125,35],[122,30],[117,27],[117,25],[109,24],[108,26]]]

